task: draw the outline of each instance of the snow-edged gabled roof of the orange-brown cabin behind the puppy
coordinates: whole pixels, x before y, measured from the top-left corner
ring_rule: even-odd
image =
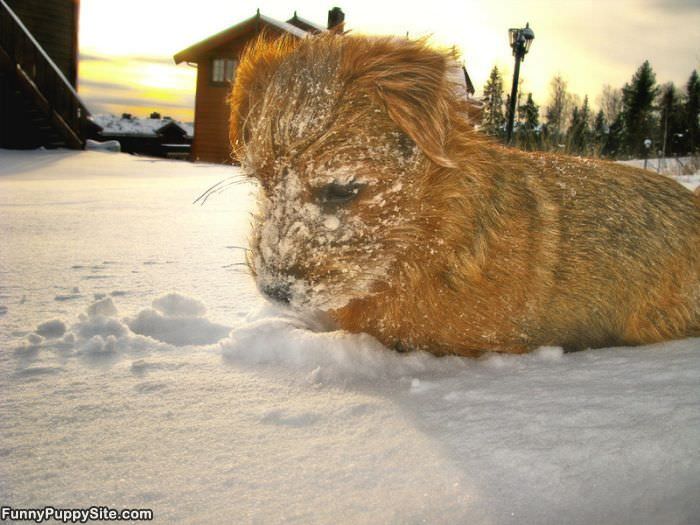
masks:
[[[297,38],[306,38],[307,36],[309,36],[310,33],[316,32],[316,29],[319,26],[317,26],[316,24],[312,24],[311,22],[304,20],[303,18],[297,17],[296,13],[294,15],[295,16],[290,19],[290,22],[298,21],[300,22],[299,25],[307,25],[313,29],[310,29],[308,31],[304,30],[300,27],[297,27],[296,25],[293,25],[290,22],[282,22],[269,16],[265,16],[261,14],[258,10],[255,16],[252,16],[244,20],[243,22],[231,26],[228,29],[224,29],[223,31],[220,31],[215,35],[212,35],[209,38],[197,42],[196,44],[188,47],[187,49],[183,49],[179,53],[176,53],[173,56],[173,59],[175,60],[176,64],[180,64],[181,62],[198,62],[203,55],[206,55],[210,51],[216,49],[217,47],[227,42],[230,42],[231,40],[240,38],[241,36],[244,36],[248,33],[253,33],[257,31],[261,26],[272,27],[290,35],[293,35]],[[323,29],[321,28],[320,30]]]

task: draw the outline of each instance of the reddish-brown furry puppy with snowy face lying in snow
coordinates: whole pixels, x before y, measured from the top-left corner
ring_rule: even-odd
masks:
[[[261,290],[435,354],[700,335],[700,197],[495,144],[474,130],[454,64],[386,37],[247,50],[231,139],[262,186]]]

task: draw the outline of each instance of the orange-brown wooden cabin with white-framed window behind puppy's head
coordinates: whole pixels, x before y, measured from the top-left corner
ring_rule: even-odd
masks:
[[[344,21],[340,8],[328,14],[328,27],[338,27]],[[294,16],[282,22],[260,13],[206,40],[180,51],[173,58],[176,64],[186,62],[197,66],[197,93],[194,110],[194,143],[192,160],[231,163],[228,138],[229,110],[226,99],[236,79],[236,67],[245,46],[261,31],[272,36],[292,35],[305,38],[326,28]]]

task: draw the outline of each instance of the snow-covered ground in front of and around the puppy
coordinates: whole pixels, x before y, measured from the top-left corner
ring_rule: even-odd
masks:
[[[334,332],[242,271],[251,186],[192,205],[233,173],[0,151],[1,505],[700,521],[700,340],[469,360]]]

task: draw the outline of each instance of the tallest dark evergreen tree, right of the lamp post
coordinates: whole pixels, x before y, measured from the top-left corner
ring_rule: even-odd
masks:
[[[653,103],[659,92],[656,75],[648,60],[639,66],[629,84],[622,88],[624,146],[628,154],[645,154],[644,140],[654,134]]]

